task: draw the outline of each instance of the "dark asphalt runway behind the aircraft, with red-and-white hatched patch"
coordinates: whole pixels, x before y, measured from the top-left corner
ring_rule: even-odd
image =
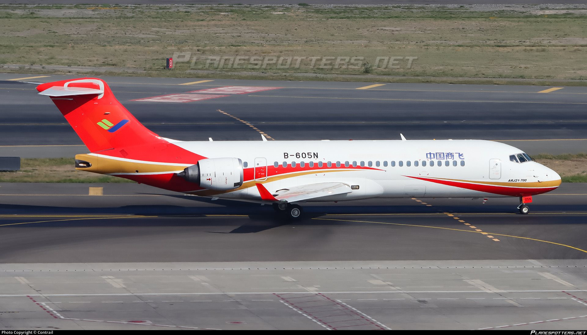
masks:
[[[0,155],[85,152],[56,107],[36,94],[34,84],[6,81],[19,77],[0,74],[5,111]],[[26,77],[34,82],[73,78]],[[587,144],[585,87],[102,78],[137,119],[160,136],[177,140],[260,140],[241,119],[275,140],[399,139],[403,133],[408,139],[504,141],[530,154],[581,153]],[[210,93],[227,86],[271,89]],[[158,100],[161,96],[172,97]],[[177,102],[169,101],[173,99]]]

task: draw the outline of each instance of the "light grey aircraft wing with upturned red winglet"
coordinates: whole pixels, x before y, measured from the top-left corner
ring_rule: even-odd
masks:
[[[263,184],[256,185],[259,194],[261,194],[261,199],[265,201],[296,202],[326,197],[328,195],[345,194],[352,191],[349,185],[343,184],[342,182],[320,182],[318,184],[291,187],[279,195],[272,195]]]

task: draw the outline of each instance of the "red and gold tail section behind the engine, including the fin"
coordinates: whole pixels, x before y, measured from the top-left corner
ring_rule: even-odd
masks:
[[[36,87],[49,96],[90,150],[76,155],[76,169],[116,175],[168,190],[198,186],[177,177],[205,158],[143,126],[116,100],[102,79],[60,80]]]

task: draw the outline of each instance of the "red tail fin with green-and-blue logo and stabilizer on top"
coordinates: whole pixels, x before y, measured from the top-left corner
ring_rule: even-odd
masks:
[[[129,113],[102,79],[82,78],[41,84],[86,147],[96,151],[167,143]]]

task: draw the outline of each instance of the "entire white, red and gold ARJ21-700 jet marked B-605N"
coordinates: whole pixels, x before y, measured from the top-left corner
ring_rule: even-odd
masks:
[[[552,191],[561,177],[511,145],[483,140],[177,141],[143,126],[101,79],[44,83],[92,152],[77,170],[154,187],[273,204],[291,218],[303,202],[369,198],[519,197]],[[263,138],[265,139],[265,138]]]

